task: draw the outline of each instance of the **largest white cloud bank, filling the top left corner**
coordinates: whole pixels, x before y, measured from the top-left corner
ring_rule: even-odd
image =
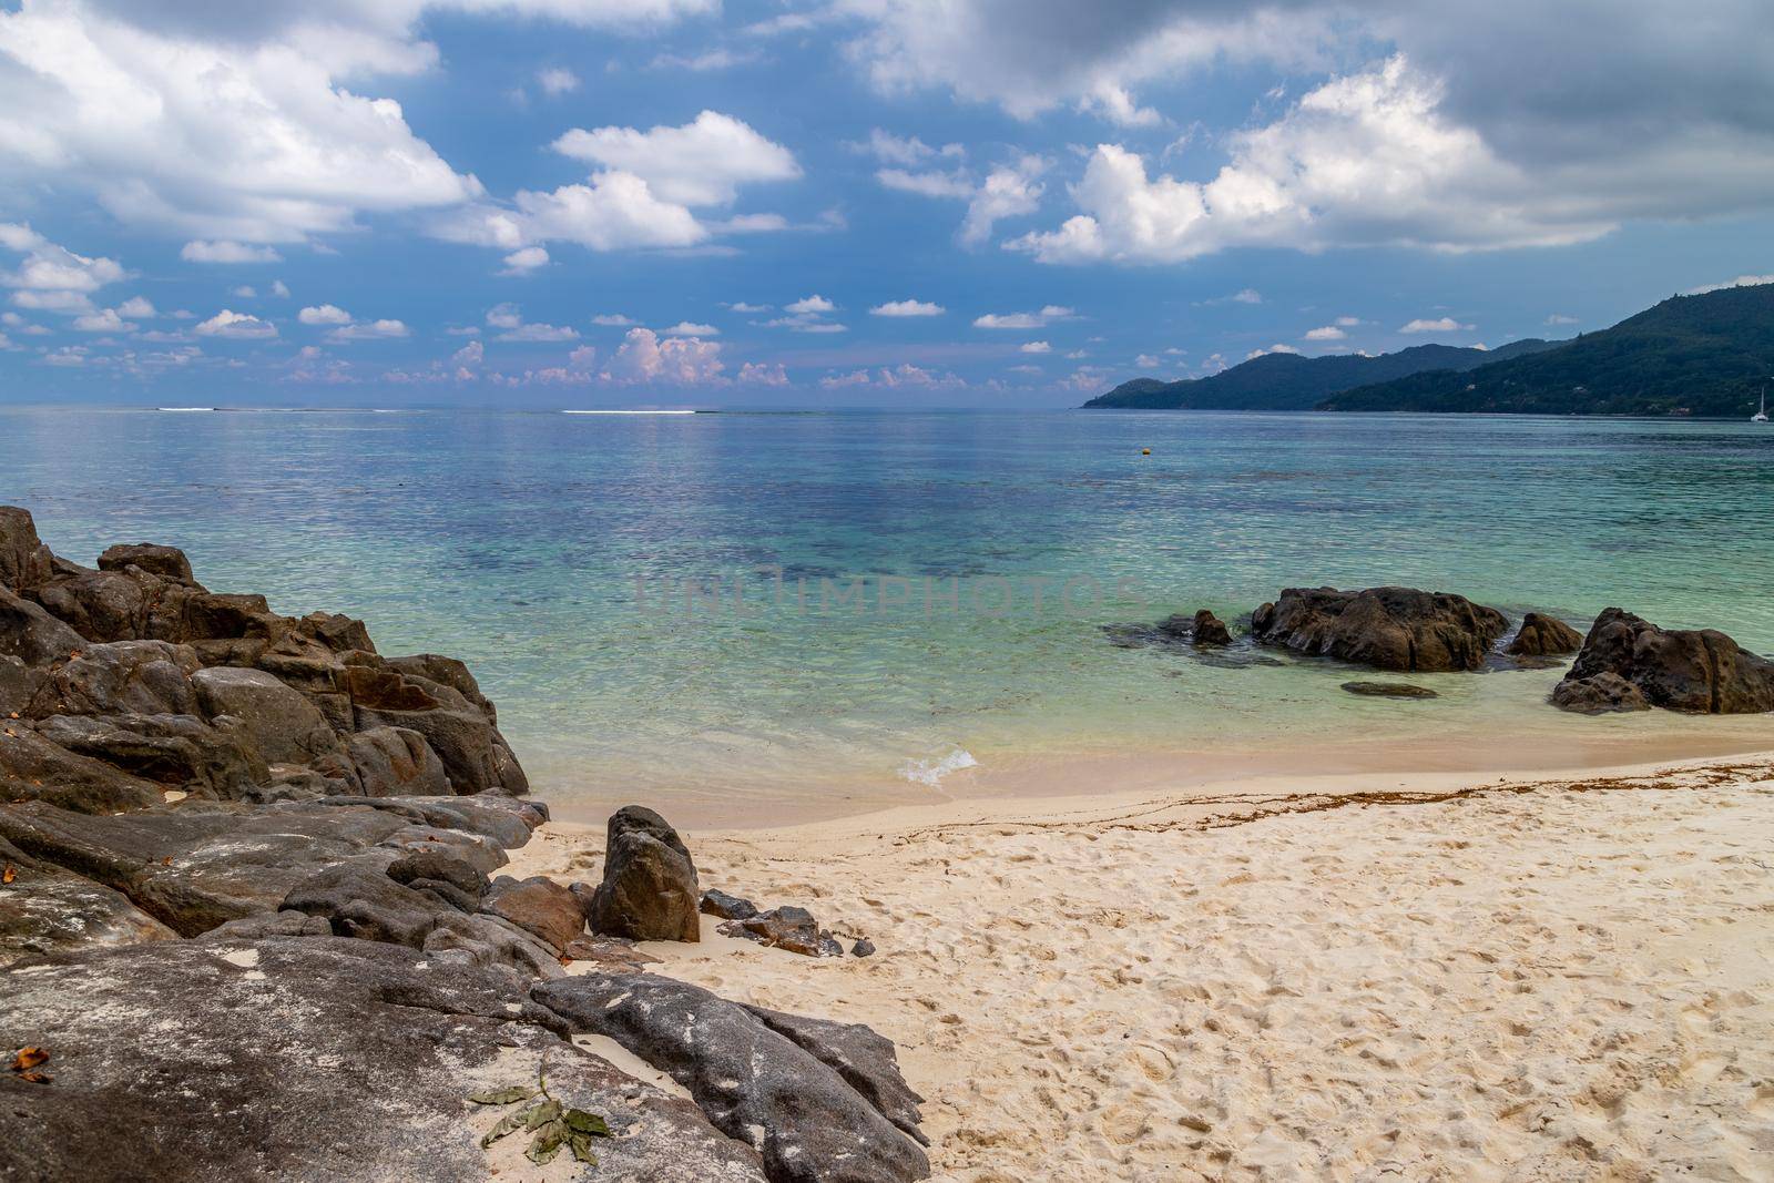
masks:
[[[23,0],[0,11],[0,161],[89,190],[114,216],[239,243],[481,193],[360,92],[436,66],[428,11],[648,28],[715,0]]]

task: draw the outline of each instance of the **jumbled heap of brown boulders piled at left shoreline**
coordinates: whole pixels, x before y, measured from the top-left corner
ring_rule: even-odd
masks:
[[[110,812],[206,800],[525,793],[454,658],[385,658],[360,621],[216,594],[183,552],[57,559],[0,505],[0,800]]]

